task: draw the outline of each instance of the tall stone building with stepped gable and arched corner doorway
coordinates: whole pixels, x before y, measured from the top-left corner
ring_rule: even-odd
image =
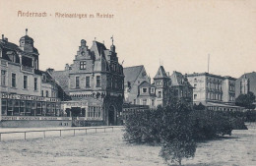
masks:
[[[73,64],[51,75],[71,97],[62,102],[67,116],[94,125],[119,125],[124,97],[123,67],[118,63],[115,46],[93,41],[89,49],[82,39]]]

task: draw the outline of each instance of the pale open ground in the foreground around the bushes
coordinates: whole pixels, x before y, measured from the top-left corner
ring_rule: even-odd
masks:
[[[6,138],[0,142],[0,165],[166,165],[159,156],[159,146],[128,144],[123,141],[122,135],[123,132],[118,129],[113,133],[78,133],[76,137],[64,134],[61,138]],[[233,131],[230,138],[200,143],[195,157],[184,160],[183,164],[256,165],[256,124],[250,124],[246,131]]]

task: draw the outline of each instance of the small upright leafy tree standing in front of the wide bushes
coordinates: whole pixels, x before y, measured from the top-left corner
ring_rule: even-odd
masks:
[[[172,102],[163,110],[160,156],[166,163],[178,162],[194,157],[196,142],[193,137],[193,123],[189,117],[191,106],[185,102]]]

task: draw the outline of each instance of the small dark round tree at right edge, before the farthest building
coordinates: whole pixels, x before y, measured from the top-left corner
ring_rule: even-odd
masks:
[[[255,101],[255,95],[253,92],[249,91],[247,94],[240,94],[235,99],[235,105],[245,107],[247,109],[254,109],[255,105],[253,102]]]

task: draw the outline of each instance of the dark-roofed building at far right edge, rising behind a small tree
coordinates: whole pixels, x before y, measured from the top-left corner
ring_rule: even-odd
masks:
[[[256,95],[256,73],[247,73],[235,81],[235,97],[247,94],[249,91]]]

